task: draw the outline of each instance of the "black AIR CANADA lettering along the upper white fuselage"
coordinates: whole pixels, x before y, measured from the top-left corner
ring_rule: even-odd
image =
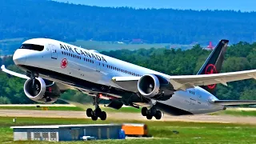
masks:
[[[72,53],[75,52],[79,55],[84,55],[85,57],[88,57],[88,58],[94,58],[98,61],[106,62],[106,59],[104,57],[100,57],[97,54],[90,54],[89,52],[86,52],[85,50],[82,51],[82,50],[78,50],[77,48],[74,48],[74,50],[73,50],[73,48],[71,48],[70,46],[66,46],[66,45],[62,45],[62,44],[60,44],[60,46],[61,46],[61,49],[64,49],[66,51],[70,51]]]

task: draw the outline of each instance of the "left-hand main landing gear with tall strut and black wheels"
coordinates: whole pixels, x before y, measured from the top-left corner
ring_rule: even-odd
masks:
[[[87,117],[90,117],[93,121],[97,121],[98,118],[101,118],[102,121],[106,120],[106,112],[102,111],[101,108],[98,106],[99,102],[99,95],[94,97],[94,106],[95,110],[92,109],[87,109],[86,110],[86,115]]]

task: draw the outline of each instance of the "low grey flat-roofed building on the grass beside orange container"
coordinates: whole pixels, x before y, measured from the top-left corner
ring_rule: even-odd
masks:
[[[14,141],[81,141],[124,139],[122,124],[12,126]]]

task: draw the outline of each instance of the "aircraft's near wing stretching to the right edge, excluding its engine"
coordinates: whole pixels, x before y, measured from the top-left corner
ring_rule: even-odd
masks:
[[[137,83],[140,77],[114,77],[112,81],[118,86],[130,91],[137,92]],[[221,83],[227,86],[227,82],[245,79],[256,79],[256,70],[245,70],[221,74],[199,74],[169,76],[166,79],[174,86],[175,90],[186,90],[194,86],[208,86]]]

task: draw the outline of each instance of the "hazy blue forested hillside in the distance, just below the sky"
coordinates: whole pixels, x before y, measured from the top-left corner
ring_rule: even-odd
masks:
[[[256,41],[256,12],[134,9],[48,0],[0,1],[0,39],[54,38],[202,45],[227,38]]]

